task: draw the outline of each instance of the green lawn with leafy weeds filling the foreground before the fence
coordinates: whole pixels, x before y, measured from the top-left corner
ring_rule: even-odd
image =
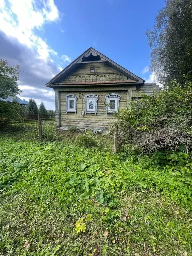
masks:
[[[153,168],[71,138],[40,143],[34,122],[13,126],[0,135],[0,255],[192,255],[179,160]]]

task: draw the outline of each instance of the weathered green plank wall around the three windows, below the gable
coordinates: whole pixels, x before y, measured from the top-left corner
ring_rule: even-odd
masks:
[[[147,95],[151,95],[153,91],[159,91],[157,85],[154,84],[144,84],[144,85],[122,85],[119,87],[109,87],[108,86],[82,86],[82,87],[70,87],[70,88],[56,88],[55,91],[59,92],[59,100],[60,100],[60,114],[61,114],[61,126],[77,126],[80,128],[107,128],[110,127],[114,121],[114,114],[105,113],[106,109],[106,100],[105,96],[109,93],[116,93],[121,96],[119,101],[119,109],[127,109],[129,107],[130,101],[135,100],[137,98],[141,98],[140,93],[144,93]],[[66,113],[66,101],[65,96],[67,94],[75,94],[78,96],[77,99],[77,113]],[[96,94],[99,99],[97,102],[97,114],[95,113],[87,113],[83,115],[83,111],[85,111],[85,95],[86,94]]]

